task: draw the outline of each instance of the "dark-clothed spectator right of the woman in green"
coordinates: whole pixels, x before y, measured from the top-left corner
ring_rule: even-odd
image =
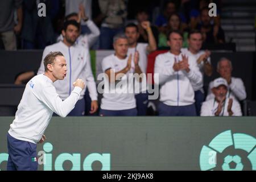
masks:
[[[208,15],[208,7],[201,9],[200,11],[200,24],[198,24],[197,29],[201,31],[203,35],[204,43],[221,44],[225,43],[224,30],[220,25],[216,24],[214,26],[211,23],[212,18]]]

